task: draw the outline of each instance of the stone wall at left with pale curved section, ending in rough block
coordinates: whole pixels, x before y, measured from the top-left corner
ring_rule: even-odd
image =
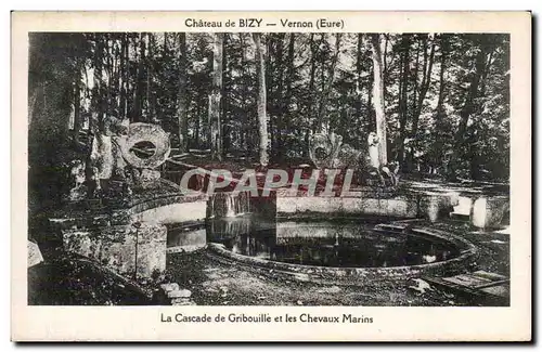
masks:
[[[202,221],[205,195],[172,194],[143,199],[113,211],[64,212],[49,219],[64,249],[90,258],[133,278],[152,277],[166,269],[166,224]]]

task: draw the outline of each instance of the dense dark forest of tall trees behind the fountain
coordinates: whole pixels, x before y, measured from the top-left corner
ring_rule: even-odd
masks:
[[[289,165],[314,133],[364,149],[376,131],[403,173],[508,179],[508,35],[40,32],[28,73],[37,175],[113,115],[212,160]]]

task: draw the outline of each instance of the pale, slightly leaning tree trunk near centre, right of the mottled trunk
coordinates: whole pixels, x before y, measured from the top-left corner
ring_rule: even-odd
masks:
[[[254,43],[256,45],[256,64],[258,71],[258,131],[259,131],[259,152],[260,165],[267,167],[269,164],[268,155],[268,123],[266,116],[266,61],[261,49],[261,35],[253,32]]]

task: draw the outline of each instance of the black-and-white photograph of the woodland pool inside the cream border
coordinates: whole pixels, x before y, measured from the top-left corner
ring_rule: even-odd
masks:
[[[509,34],[312,24],[29,32],[27,303],[509,307]]]

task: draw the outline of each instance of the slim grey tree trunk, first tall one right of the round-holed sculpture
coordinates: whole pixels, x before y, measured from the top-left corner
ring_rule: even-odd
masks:
[[[186,96],[186,34],[179,34],[179,94],[177,96],[177,118],[179,121],[179,154],[188,151],[188,96]]]

